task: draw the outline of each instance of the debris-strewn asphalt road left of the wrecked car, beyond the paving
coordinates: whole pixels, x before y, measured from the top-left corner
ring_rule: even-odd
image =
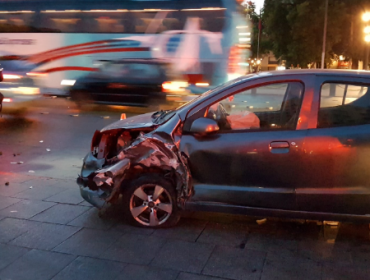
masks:
[[[0,119],[0,170],[19,174],[75,179],[90,149],[95,130],[145,108],[86,106],[77,109],[65,98],[29,102],[17,114],[4,105]]]

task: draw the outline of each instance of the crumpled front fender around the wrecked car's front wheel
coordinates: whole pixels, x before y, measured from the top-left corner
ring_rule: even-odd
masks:
[[[113,164],[103,167],[103,161]],[[90,153],[85,157],[84,167],[99,167],[90,173],[88,168],[82,174],[87,174],[90,191],[104,191],[106,195],[100,193],[99,199],[105,197],[105,202],[109,203],[118,198],[124,181],[151,172],[160,172],[173,179],[180,206],[192,193],[186,156],[179,152],[172,136],[164,132],[141,134],[129,147],[106,161],[96,159]]]

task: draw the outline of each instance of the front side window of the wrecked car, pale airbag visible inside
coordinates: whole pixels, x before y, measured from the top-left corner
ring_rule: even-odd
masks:
[[[221,131],[295,129],[302,97],[299,82],[255,87],[214,103],[206,117],[216,120]]]

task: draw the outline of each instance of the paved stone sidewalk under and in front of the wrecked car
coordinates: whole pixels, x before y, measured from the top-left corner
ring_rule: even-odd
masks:
[[[7,184],[8,183],[8,184]],[[74,180],[0,173],[0,279],[369,279],[367,224],[186,213],[140,229],[85,203]]]

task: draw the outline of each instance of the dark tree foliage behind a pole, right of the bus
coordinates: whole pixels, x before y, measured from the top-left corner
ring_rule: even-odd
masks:
[[[361,15],[369,0],[329,0],[326,62],[336,55],[363,55]],[[264,34],[274,55],[287,64],[321,61],[324,0],[265,0]]]

